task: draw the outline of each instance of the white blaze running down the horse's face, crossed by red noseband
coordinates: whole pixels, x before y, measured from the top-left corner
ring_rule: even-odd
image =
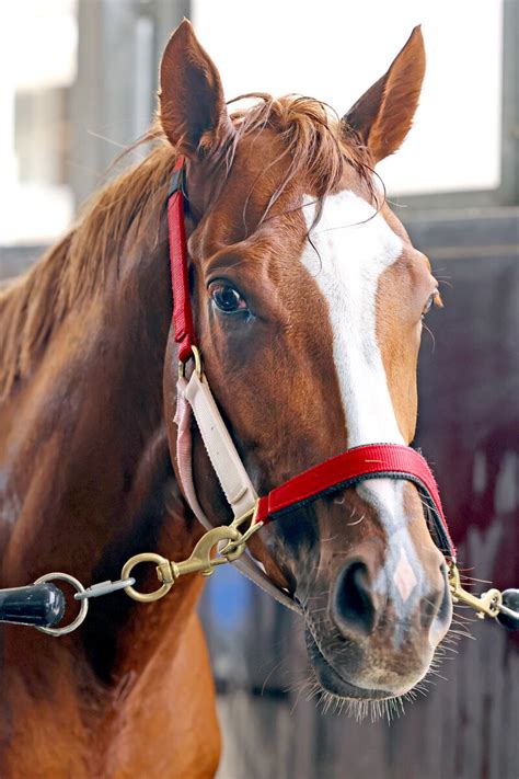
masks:
[[[310,228],[315,215],[312,198],[305,198],[302,210]],[[319,256],[307,242],[302,262],[328,305],[348,446],[404,444],[377,342],[379,279],[402,254],[403,242],[369,203],[349,191],[326,197],[311,240]],[[403,523],[403,481],[391,479],[368,480],[357,488],[378,509],[393,540],[385,565],[391,578],[402,559],[411,561],[410,566],[416,563]]]

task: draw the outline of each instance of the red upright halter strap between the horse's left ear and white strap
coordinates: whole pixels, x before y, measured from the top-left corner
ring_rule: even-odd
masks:
[[[170,236],[171,284],[173,287],[173,327],[182,363],[196,346],[187,275],[187,244],[184,227],[184,194],[182,192],[184,158],[178,157],[168,194],[168,231]]]

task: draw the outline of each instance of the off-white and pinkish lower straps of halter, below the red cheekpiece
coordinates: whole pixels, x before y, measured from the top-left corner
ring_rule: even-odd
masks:
[[[192,377],[193,379],[193,377]],[[192,379],[189,379],[189,385]],[[198,379],[198,383],[201,383],[200,380]],[[206,382],[207,389],[209,390],[209,387]],[[176,437],[176,462],[178,467],[178,473],[182,482],[182,489],[185,495],[185,499],[187,503],[189,504],[189,507],[198,522],[206,528],[206,530],[209,530],[212,525],[205,515],[200,504],[198,503],[198,499],[196,496],[196,490],[195,485],[193,482],[193,458],[192,458],[192,436],[191,436],[191,414],[192,414],[192,408],[189,403],[187,402],[187,389],[188,389],[188,382],[184,379],[181,378],[178,379],[178,383],[176,387],[176,414],[175,414],[175,423],[177,425],[177,437]],[[246,486],[246,490],[242,493],[243,494],[243,500],[240,497],[239,502],[235,504],[235,507],[233,506],[234,511],[234,516],[241,516],[241,514],[244,514],[246,511],[249,511],[249,507],[252,508],[254,505],[255,501],[255,495],[256,492],[251,484],[249,477],[246,476],[245,469],[243,468],[243,463],[240,460],[240,456],[238,451],[235,450],[234,444],[232,443],[231,437],[229,436],[229,433],[223,424],[223,420],[221,419],[220,412],[218,411],[218,408],[215,403],[215,400],[212,396],[207,393],[200,393],[198,391],[195,391],[193,393],[189,392],[191,397],[198,398],[198,403],[197,406],[200,410],[200,408],[205,408],[204,414],[200,414],[200,419],[204,420],[204,428],[206,429],[206,435],[207,431],[210,426],[210,419],[212,417],[214,422],[216,423],[216,427],[220,429],[224,429],[227,433],[227,437],[229,440],[226,440],[224,443],[224,450],[229,454],[230,452],[230,460],[229,462],[233,462],[234,458],[239,461],[240,467],[234,468],[234,466],[231,466],[231,478],[229,479],[229,482],[227,481],[227,477],[223,477],[226,480],[226,484],[230,491],[231,494],[238,494],[240,495],[240,484]],[[200,397],[205,398],[200,401]],[[210,398],[209,403],[207,403],[207,398]],[[195,417],[197,419],[197,417]],[[197,424],[198,419],[197,419]],[[200,433],[203,435],[204,443],[206,444],[206,438],[204,437],[204,433],[201,432],[200,427]],[[222,439],[224,439],[224,436],[222,436]],[[207,440],[211,442],[214,440],[212,434],[207,435]],[[217,445],[215,448],[212,448],[212,456],[211,452],[208,449],[209,458],[214,465],[214,468],[216,472],[218,473],[218,478],[220,479],[220,483],[222,483],[222,480],[220,478],[219,471],[217,470],[215,466],[215,461],[217,460],[219,463],[221,463],[223,460],[220,460],[220,457],[218,455],[218,451],[220,450],[220,445],[221,445],[221,439],[220,435],[216,435],[216,440]],[[220,443],[218,443],[220,440]],[[230,446],[229,446],[230,442]],[[212,444],[210,444],[212,446]],[[207,444],[206,444],[207,447]],[[232,447],[232,448],[231,448]],[[219,465],[219,468],[221,468],[221,465]],[[242,473],[243,471],[245,473],[246,482],[243,479],[242,480]],[[238,485],[238,486],[237,486]],[[250,489],[249,489],[250,486]],[[222,484],[223,488],[223,484]],[[224,489],[226,492],[226,489]],[[227,492],[226,492],[227,495]],[[243,508],[241,511],[242,505],[246,505],[245,501],[250,500],[251,496],[254,495],[254,499],[252,503],[249,505],[249,507]],[[240,507],[240,508],[239,508]],[[240,514],[237,514],[237,511],[240,511]],[[249,553],[249,550],[245,551],[245,553],[235,560],[232,563],[239,571],[240,573],[243,573],[249,580],[254,582],[261,589],[263,589],[267,595],[270,595],[273,598],[275,598],[278,603],[280,603],[282,606],[286,606],[287,608],[291,609],[292,611],[296,611],[297,614],[301,614],[301,608],[296,604],[296,602],[286,593],[284,589],[280,589],[277,587],[265,574],[265,572],[260,568],[258,563],[254,560],[254,558]]]

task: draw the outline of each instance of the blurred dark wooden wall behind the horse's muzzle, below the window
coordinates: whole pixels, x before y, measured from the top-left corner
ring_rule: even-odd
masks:
[[[461,565],[519,586],[519,210],[407,227],[447,282],[446,308],[428,320],[434,350],[424,334],[417,444]],[[519,642],[496,623],[460,637],[445,678],[405,715],[358,724],[298,695],[298,618],[234,571],[211,580],[201,612],[220,689],[220,779],[518,779]]]

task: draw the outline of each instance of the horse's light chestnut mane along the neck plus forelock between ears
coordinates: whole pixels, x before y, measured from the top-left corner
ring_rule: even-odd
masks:
[[[279,134],[284,150],[270,164],[285,158],[289,163],[263,218],[289,183],[303,172],[312,176],[322,201],[338,185],[345,165],[353,165],[374,196],[366,150],[353,131],[345,131],[324,103],[299,95],[274,99],[263,93],[237,100],[242,99],[252,99],[254,103],[231,114],[235,131],[218,152],[216,164],[221,163],[220,181],[224,183],[242,138],[267,128]],[[70,308],[103,289],[108,273],[114,272],[114,263],[118,270],[125,237],[136,221],[138,232],[145,213],[142,229],[149,234],[154,230],[158,236],[175,151],[157,124],[120,158],[150,141],[154,147],[142,161],[95,193],[70,231],[24,276],[0,289],[0,399],[30,374]],[[160,207],[154,208],[150,221],[151,204]]]

